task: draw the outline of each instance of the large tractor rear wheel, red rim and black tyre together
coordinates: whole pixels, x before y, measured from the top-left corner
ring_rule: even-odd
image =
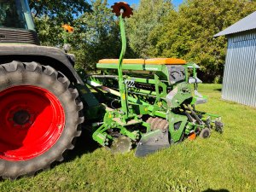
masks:
[[[12,61],[0,66],[0,176],[48,168],[73,148],[83,122],[78,90],[49,66]]]

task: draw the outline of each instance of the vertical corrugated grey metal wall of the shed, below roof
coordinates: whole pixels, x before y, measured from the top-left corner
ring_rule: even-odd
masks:
[[[256,107],[256,31],[229,38],[222,98]]]

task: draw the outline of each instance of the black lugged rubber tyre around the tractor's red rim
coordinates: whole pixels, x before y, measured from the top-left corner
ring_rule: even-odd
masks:
[[[63,160],[64,152],[68,149],[73,149],[75,138],[81,134],[81,124],[84,121],[82,113],[83,103],[79,100],[78,90],[74,88],[74,85],[65,75],[57,72],[53,67],[43,66],[33,61],[12,61],[0,65],[0,100],[2,98],[1,94],[4,91],[13,89],[14,87],[23,88],[26,86],[49,91],[56,98],[56,102],[61,103],[61,110],[65,114],[65,118],[63,118],[64,123],[61,128],[62,131],[58,135],[58,138],[56,138],[55,143],[50,145],[46,150],[42,150],[41,154],[35,155],[32,158],[26,157],[24,160],[21,160],[22,158],[19,157],[20,159],[9,160],[4,156],[3,152],[5,149],[1,148],[0,176],[3,178],[15,179],[24,175],[31,176],[38,171],[48,169],[53,162]],[[17,93],[19,96],[19,92]],[[8,100],[8,98],[5,99]],[[5,114],[0,105],[1,115],[4,116]],[[36,120],[34,119],[34,121]],[[23,125],[22,122],[20,125]],[[0,125],[0,134],[2,132],[1,130],[4,131],[3,124]],[[3,143],[0,139],[0,146],[1,144]],[[30,151],[28,150],[27,153],[29,154]]]

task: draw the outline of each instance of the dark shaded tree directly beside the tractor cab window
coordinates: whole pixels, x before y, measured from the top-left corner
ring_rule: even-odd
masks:
[[[30,7],[41,44],[48,46],[63,44],[61,26],[73,26],[79,15],[91,11],[84,0],[31,0]]]

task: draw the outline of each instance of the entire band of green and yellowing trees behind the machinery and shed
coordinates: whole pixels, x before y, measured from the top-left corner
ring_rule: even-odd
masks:
[[[118,58],[119,25],[107,0],[32,0],[43,45],[63,44],[61,25],[75,27],[68,38],[77,68],[90,72],[102,58]],[[255,0],[141,0],[126,20],[126,58],[176,57],[201,66],[201,79],[221,82],[227,41],[213,35],[256,10]],[[202,75],[203,74],[203,75]]]

